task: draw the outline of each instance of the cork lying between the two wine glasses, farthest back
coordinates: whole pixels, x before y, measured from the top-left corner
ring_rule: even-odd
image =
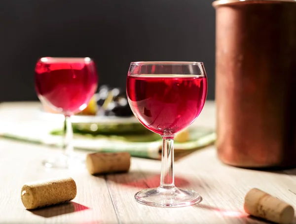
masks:
[[[122,153],[93,153],[86,157],[86,168],[90,174],[127,172],[131,155]]]

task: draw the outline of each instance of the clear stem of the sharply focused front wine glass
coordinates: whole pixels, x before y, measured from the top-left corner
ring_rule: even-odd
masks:
[[[162,136],[160,188],[174,188],[174,138]]]

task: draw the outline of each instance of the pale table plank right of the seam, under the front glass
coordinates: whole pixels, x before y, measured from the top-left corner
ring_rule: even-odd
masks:
[[[209,165],[210,164],[210,165]],[[154,208],[137,203],[134,194],[157,187],[160,162],[134,158],[128,174],[108,175],[107,181],[122,223],[264,223],[251,219],[243,210],[244,195],[259,188],[296,207],[289,191],[295,182],[284,173],[230,167],[216,157],[214,147],[199,150],[175,163],[176,186],[199,192],[203,201],[184,208]]]

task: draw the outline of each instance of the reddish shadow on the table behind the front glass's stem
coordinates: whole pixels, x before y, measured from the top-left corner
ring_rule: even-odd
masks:
[[[117,173],[107,175],[97,175],[99,178],[105,178],[117,184],[134,188],[157,188],[160,183],[160,173],[130,171],[128,173]],[[175,185],[177,187],[186,187],[189,181],[183,177],[175,176]]]

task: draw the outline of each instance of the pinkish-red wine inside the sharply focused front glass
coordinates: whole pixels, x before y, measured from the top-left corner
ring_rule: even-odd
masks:
[[[200,114],[207,96],[205,76],[145,74],[127,77],[132,111],[149,130],[176,134]]]

